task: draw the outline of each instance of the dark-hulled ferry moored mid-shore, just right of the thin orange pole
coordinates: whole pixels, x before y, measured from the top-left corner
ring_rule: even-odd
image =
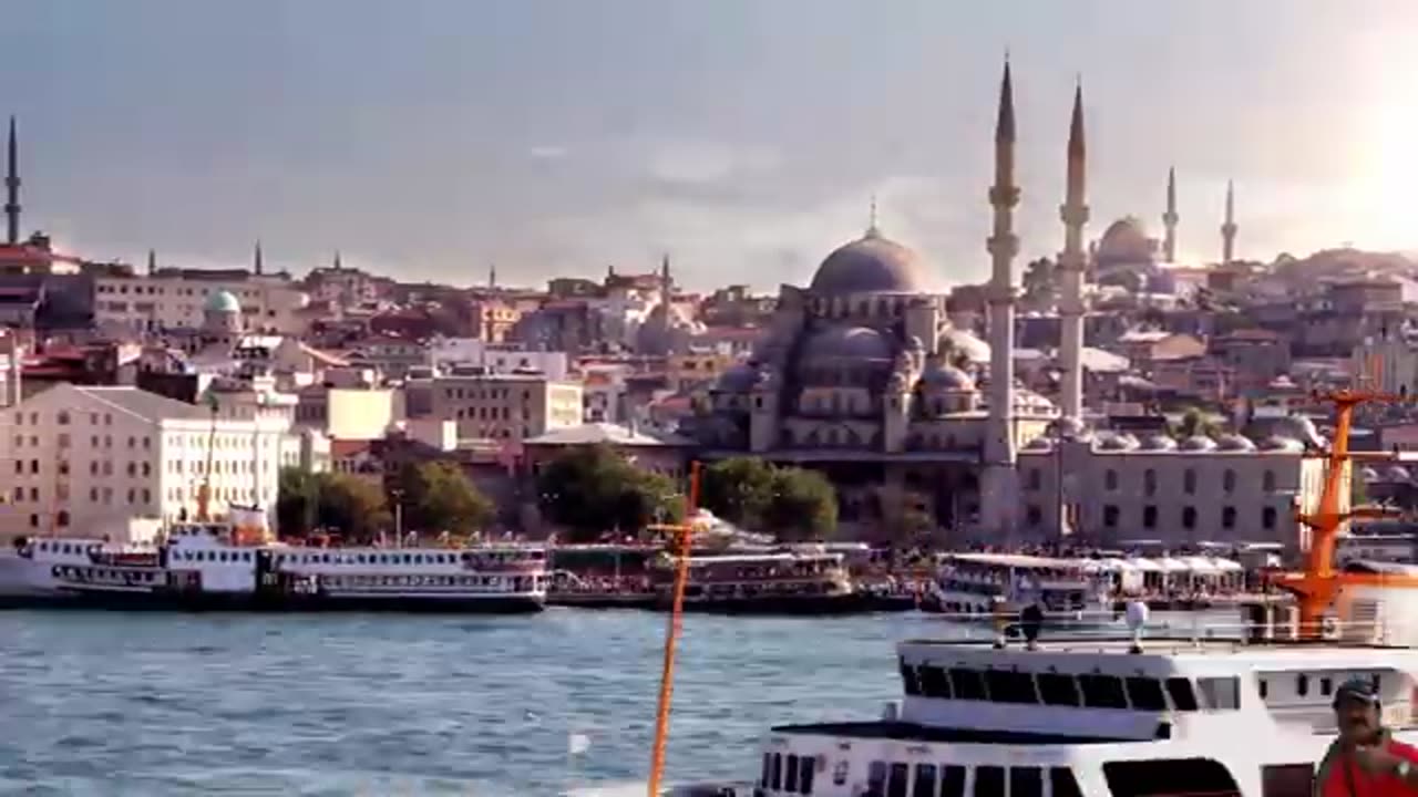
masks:
[[[655,567],[657,606],[669,608],[675,572]],[[906,598],[910,604],[915,601]],[[900,603],[898,598],[896,603]],[[855,614],[899,608],[889,597],[858,590],[841,553],[790,550],[691,556],[685,611],[720,614]]]

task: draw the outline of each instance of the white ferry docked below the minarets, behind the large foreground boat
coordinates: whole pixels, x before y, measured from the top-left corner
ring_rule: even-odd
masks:
[[[1082,560],[1018,553],[951,553],[942,560],[929,608],[964,618],[1017,614],[1029,604],[1046,615],[1076,617],[1112,608],[1112,580]]]

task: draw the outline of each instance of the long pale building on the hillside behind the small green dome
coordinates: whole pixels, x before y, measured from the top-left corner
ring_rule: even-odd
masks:
[[[203,325],[208,301],[223,292],[240,302],[247,330],[305,332],[299,311],[309,296],[288,279],[193,269],[96,278],[94,322],[135,332],[196,329]]]

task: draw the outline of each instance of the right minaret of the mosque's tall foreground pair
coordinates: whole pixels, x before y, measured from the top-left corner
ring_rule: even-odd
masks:
[[[1059,410],[1066,418],[1083,417],[1083,225],[1088,204],[1083,149],[1083,85],[1073,89],[1073,119],[1068,130],[1068,189],[1059,218],[1064,220],[1064,251],[1059,252],[1059,355],[1064,360],[1064,391]]]

